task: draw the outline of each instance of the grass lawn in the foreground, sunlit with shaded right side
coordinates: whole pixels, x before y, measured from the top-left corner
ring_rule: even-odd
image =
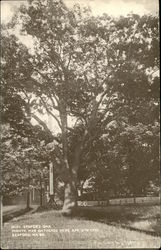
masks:
[[[154,223],[154,220],[158,219],[158,213],[160,213],[159,206],[124,206],[121,208],[115,206],[83,208],[82,217],[77,218],[65,218],[59,211],[53,210],[26,214],[4,224],[2,249],[158,249],[161,245],[161,238],[155,233],[154,235],[148,234],[150,229],[147,223],[144,225],[147,233],[142,229],[140,231],[132,229],[130,224],[143,223],[145,220],[153,220]],[[36,228],[40,225],[40,229]],[[16,231],[11,232],[11,230],[16,230],[13,226],[19,226],[18,230],[26,230],[28,235],[22,236],[20,231],[17,231],[17,234]],[[35,227],[33,231],[30,231],[29,226]]]

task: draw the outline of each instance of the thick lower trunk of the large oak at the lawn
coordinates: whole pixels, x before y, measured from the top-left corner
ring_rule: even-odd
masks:
[[[76,184],[73,181],[67,182],[64,190],[63,215],[72,216],[77,213],[77,196]]]

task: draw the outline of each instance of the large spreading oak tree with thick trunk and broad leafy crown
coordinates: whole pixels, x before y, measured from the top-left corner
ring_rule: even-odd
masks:
[[[68,9],[61,0],[30,0],[11,26],[16,24],[35,44],[30,55],[16,42],[19,53],[10,55],[11,65],[17,65],[12,72],[15,88],[28,107],[28,117],[51,135],[53,148],[59,145],[63,213],[73,214],[84,150],[91,159],[91,148],[108,134],[111,122],[136,125],[136,106],[145,98],[155,102],[150,93],[157,85],[152,73],[158,68],[158,20],[137,15],[94,17],[88,8]],[[129,107],[131,118],[126,115]],[[37,115],[44,111],[59,126],[59,138]],[[71,134],[76,134],[72,144]]]

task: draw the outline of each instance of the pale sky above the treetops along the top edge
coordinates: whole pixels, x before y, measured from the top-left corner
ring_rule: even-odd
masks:
[[[2,0],[1,1],[1,22],[7,23],[11,20],[14,9],[24,0]],[[136,14],[155,14],[159,9],[159,0],[64,0],[67,6],[72,7],[74,3],[88,5],[94,15],[107,13],[112,16],[127,15],[130,12]]]

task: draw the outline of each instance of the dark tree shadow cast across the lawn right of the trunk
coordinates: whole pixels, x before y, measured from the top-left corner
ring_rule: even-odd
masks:
[[[128,209],[109,209],[108,211],[108,209],[84,207],[79,209],[78,217],[153,236],[161,236],[160,214],[146,216],[139,212],[132,213]]]

